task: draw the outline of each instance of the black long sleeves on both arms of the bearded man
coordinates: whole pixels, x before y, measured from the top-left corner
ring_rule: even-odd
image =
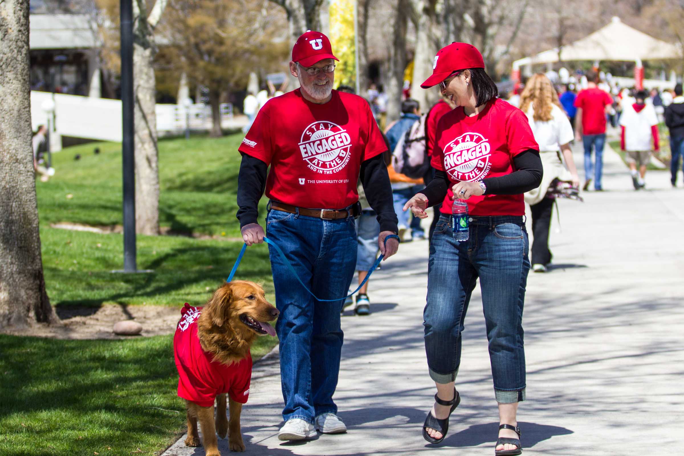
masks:
[[[259,200],[266,187],[268,166],[265,162],[243,154],[237,177],[237,219],[240,228],[259,223]],[[394,212],[392,186],[382,154],[361,163],[360,179],[368,203],[378,214],[380,231],[397,232],[397,214]],[[309,208],[318,209],[318,208]],[[341,208],[324,208],[341,209]]]

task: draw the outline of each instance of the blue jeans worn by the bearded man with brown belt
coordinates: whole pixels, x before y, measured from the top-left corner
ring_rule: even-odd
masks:
[[[272,210],[266,217],[266,232],[315,295],[321,299],[347,295],[356,265],[353,217],[321,220]],[[285,401],[282,418],[313,424],[320,414],[337,413],[332,394],[339,375],[344,299],[315,299],[292,276],[278,252],[271,245],[268,248],[280,310],[276,332]]]

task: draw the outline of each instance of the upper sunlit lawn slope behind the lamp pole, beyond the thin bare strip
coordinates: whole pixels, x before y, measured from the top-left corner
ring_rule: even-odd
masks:
[[[235,218],[243,135],[159,142],[159,220],[176,232],[239,237]],[[101,152],[94,154],[94,149]],[[76,161],[74,157],[81,155]],[[55,176],[36,181],[42,224],[122,224],[121,144],[99,142],[53,154]],[[71,198],[67,198],[71,195]],[[265,215],[265,202],[261,205]]]

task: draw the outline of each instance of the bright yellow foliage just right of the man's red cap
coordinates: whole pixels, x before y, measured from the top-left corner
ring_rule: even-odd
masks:
[[[330,1],[330,44],[332,54],[340,59],[335,68],[337,85],[356,84],[354,64],[354,0]]]

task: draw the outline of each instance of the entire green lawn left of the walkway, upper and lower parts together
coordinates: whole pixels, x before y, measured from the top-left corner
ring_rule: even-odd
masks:
[[[235,192],[241,139],[231,135],[159,143],[162,226],[239,236]],[[50,228],[55,222],[122,223],[120,152],[116,143],[66,148],[53,155],[55,176],[36,182],[51,303],[205,304],[226,280],[241,242],[138,236],[138,268],[154,272],[121,274],[111,273],[123,265],[121,234]],[[77,154],[81,159],[75,161]],[[261,211],[265,213],[265,204]],[[267,299],[274,302],[265,245],[250,247],[235,278],[263,282]],[[252,357],[261,358],[276,343],[269,336],[258,338]],[[0,334],[0,379],[3,456],[123,456],[137,448],[149,455],[185,431],[170,335],[53,340]]]

